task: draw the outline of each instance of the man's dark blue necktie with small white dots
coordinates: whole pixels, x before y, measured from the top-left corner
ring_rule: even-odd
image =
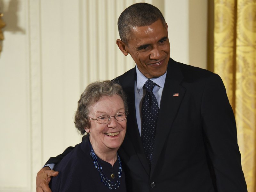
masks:
[[[156,122],[158,117],[158,103],[154,95],[153,88],[156,84],[148,79],[145,83],[146,95],[141,106],[141,139],[146,152],[147,159],[151,163],[153,159],[153,149],[156,134]]]

